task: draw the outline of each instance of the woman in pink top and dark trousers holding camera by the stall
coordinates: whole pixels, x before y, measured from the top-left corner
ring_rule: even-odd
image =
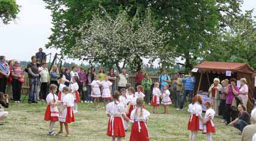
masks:
[[[237,96],[239,94],[239,87],[236,86],[236,79],[231,78],[230,79],[230,85],[228,85],[228,88],[226,90],[226,106],[225,106],[225,118],[227,123],[230,124],[230,118],[232,118],[232,121],[236,119],[236,111],[232,111],[231,104],[234,99],[234,96]]]

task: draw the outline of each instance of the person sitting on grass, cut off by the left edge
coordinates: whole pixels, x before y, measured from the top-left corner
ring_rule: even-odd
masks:
[[[8,112],[4,111],[4,109],[1,109],[1,106],[3,106],[4,108],[9,107],[8,99],[9,99],[8,94],[4,94],[0,92],[0,121],[2,121],[2,119],[8,116]],[[0,125],[4,125],[4,124],[0,124]]]

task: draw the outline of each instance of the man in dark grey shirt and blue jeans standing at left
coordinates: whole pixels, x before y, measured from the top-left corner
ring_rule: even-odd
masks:
[[[37,103],[37,84],[39,78],[39,72],[37,67],[37,58],[31,57],[31,63],[28,64],[28,78],[29,78],[29,97],[28,103]]]

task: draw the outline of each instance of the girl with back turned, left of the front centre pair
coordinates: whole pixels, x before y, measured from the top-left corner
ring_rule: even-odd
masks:
[[[113,102],[107,104],[107,117],[110,117],[109,124],[107,126],[107,136],[112,137],[112,141],[117,138],[121,140],[121,137],[125,137],[124,122],[129,121],[129,118],[125,116],[125,106],[119,101],[120,93],[115,91],[113,94]]]

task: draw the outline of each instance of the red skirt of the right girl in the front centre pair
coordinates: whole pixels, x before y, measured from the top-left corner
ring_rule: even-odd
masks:
[[[131,127],[130,141],[149,141],[149,134],[147,133],[147,127],[144,122],[140,122],[140,131],[138,131],[138,122],[134,122]]]

